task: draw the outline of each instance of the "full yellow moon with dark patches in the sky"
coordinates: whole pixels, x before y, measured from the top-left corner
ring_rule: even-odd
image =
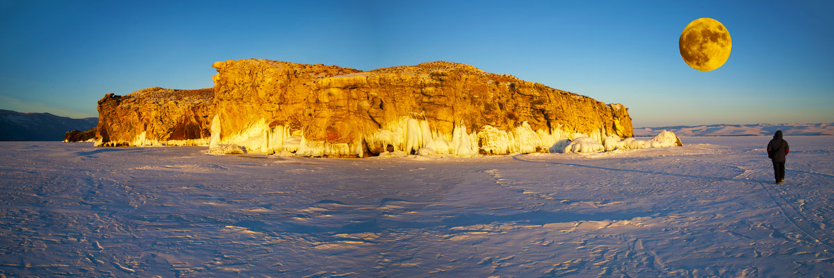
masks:
[[[684,62],[705,72],[721,68],[732,48],[730,32],[712,18],[698,18],[686,25],[678,44]]]

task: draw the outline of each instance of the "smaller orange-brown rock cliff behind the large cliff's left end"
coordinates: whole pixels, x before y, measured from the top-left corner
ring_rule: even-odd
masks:
[[[97,146],[208,144],[214,90],[144,88],[98,100]]]

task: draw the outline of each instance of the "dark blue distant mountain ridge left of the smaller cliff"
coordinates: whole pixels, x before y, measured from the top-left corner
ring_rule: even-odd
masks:
[[[0,109],[0,141],[61,141],[67,131],[87,130],[96,124],[98,118],[72,119]]]

